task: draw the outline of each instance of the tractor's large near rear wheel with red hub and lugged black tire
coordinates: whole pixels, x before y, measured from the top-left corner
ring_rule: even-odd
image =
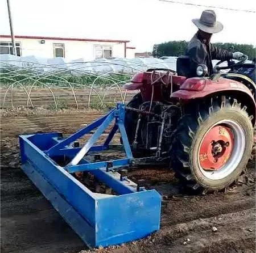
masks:
[[[253,147],[246,106],[225,96],[200,100],[179,120],[170,147],[170,166],[196,191],[217,192],[238,180]]]

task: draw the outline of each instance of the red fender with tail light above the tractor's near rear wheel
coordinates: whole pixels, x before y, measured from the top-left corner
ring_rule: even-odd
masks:
[[[256,104],[254,96],[249,88],[234,80],[219,78],[213,81],[209,78],[189,78],[180,86],[180,90],[172,93],[171,98],[188,102],[213,94],[230,94],[230,96],[234,95],[240,98],[243,106],[249,109],[250,115],[253,115],[253,124],[255,123]]]

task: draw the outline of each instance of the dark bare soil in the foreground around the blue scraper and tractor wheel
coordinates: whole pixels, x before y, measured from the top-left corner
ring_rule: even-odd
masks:
[[[11,111],[1,118],[1,252],[88,252],[63,218],[19,167],[21,133],[73,133],[104,112],[95,110]],[[255,158],[254,158],[255,160]],[[160,231],[137,242],[100,252],[255,252],[255,163],[244,183],[216,195],[191,196],[168,168],[131,170],[163,196]],[[217,231],[212,231],[215,226]],[[98,252],[98,250],[96,250]],[[91,250],[90,252],[94,252]]]

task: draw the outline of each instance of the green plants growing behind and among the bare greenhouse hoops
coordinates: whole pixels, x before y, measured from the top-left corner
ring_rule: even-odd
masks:
[[[48,73],[50,74],[50,73]],[[118,83],[121,87],[123,83],[129,82],[131,79],[130,75],[121,74],[121,73],[115,73],[115,74],[109,74],[105,77],[98,76],[91,76],[91,75],[71,75],[71,74],[59,74],[54,76],[47,77],[47,73],[44,73],[44,76],[36,76],[35,72],[32,71],[25,71],[25,70],[19,70],[16,73],[13,73],[13,70],[5,69],[4,71],[1,70],[0,73],[0,87],[1,88],[7,88],[10,87],[10,85],[14,84],[15,88],[21,88],[19,85],[22,84],[26,90],[29,90],[29,88],[34,84],[34,87],[40,87],[40,88],[47,88],[48,87],[70,87],[70,85],[73,88],[84,88],[91,87],[94,83],[94,88],[102,88],[102,91],[104,91],[104,88],[108,88],[112,85],[113,87],[116,87],[115,84]],[[18,83],[19,82],[19,83]],[[46,86],[47,85],[47,86]],[[11,90],[9,90],[10,92]],[[55,93],[55,90],[53,91]],[[56,104],[55,102],[51,102],[51,104],[48,105],[48,109],[67,109],[73,107],[67,100],[61,101],[61,98],[56,98]],[[102,95],[101,95],[102,98]],[[116,95],[116,98],[119,98],[118,100],[121,100],[121,96],[118,92]],[[31,98],[32,99],[32,98]],[[43,98],[42,98],[43,99]],[[103,99],[103,98],[102,98]],[[33,99],[32,99],[33,100]],[[77,99],[77,102],[79,103],[79,99]],[[36,104],[36,103],[35,103]],[[84,105],[82,105],[82,108],[88,107],[88,102]],[[104,105],[102,106],[102,103],[100,102],[100,99],[98,96],[91,96],[90,97],[90,108],[94,109],[106,109],[115,107],[115,99],[108,100],[108,102],[104,102]]]

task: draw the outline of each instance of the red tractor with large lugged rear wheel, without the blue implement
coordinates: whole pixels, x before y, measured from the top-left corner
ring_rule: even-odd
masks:
[[[148,69],[127,90],[139,90],[127,104],[125,128],[134,155],[168,162],[192,189],[218,191],[245,170],[254,144],[255,62],[217,63],[216,74],[177,58],[177,71]],[[230,69],[228,73],[218,73]]]

